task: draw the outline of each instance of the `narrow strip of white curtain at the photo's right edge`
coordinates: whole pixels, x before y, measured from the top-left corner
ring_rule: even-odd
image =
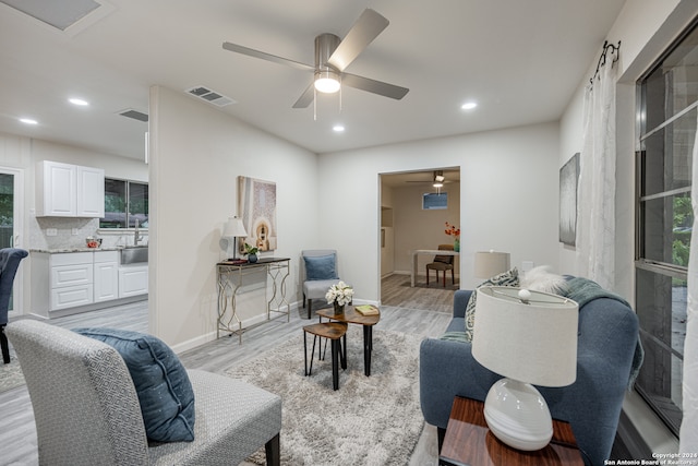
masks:
[[[694,142],[691,186],[698,180],[698,129]],[[698,191],[690,190],[694,210],[694,226],[690,234],[691,248],[688,258],[688,306],[686,343],[684,344],[684,419],[681,423],[679,445],[682,453],[698,452]]]

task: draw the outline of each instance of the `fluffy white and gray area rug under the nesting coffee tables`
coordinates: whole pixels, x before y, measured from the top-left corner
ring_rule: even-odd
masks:
[[[240,368],[243,379],[281,396],[282,465],[406,465],[424,426],[419,406],[421,338],[374,330],[371,377],[363,373],[361,327],[349,325],[347,369],[332,389],[329,345],[325,360],[303,375],[302,335]],[[312,336],[308,336],[309,351]],[[310,357],[310,355],[309,355]],[[249,461],[264,464],[264,449]]]

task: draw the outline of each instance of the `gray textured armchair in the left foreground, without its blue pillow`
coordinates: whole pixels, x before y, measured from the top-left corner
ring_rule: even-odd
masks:
[[[267,465],[280,463],[277,395],[186,371],[194,439],[156,443],[146,437],[131,372],[115,346],[33,320],[10,323],[8,336],[34,407],[39,464],[237,465],[262,445]]]

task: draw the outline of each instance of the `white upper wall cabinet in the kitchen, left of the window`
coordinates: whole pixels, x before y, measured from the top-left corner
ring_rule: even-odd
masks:
[[[105,171],[43,160],[36,169],[38,217],[105,216]]]

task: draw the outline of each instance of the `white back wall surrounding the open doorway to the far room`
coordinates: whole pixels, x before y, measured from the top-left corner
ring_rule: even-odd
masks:
[[[472,268],[483,249],[556,267],[558,150],[557,123],[545,123],[321,155],[318,246],[338,250],[359,298],[377,300],[378,174],[460,166],[461,288],[481,282]]]

